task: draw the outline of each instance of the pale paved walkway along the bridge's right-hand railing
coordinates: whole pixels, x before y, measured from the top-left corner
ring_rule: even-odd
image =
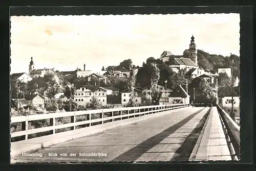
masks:
[[[231,160],[217,107],[212,107],[195,160]]]

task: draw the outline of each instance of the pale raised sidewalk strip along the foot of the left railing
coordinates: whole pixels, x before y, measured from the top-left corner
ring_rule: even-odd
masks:
[[[191,108],[191,107],[186,107],[186,108]],[[184,109],[184,108],[179,108],[179,109],[175,109],[175,110],[167,110],[167,111],[163,111],[163,112],[147,114],[147,115],[140,116],[140,117],[132,117],[129,119],[123,119],[123,120],[118,120],[118,121],[114,121],[114,122],[110,122],[110,123],[100,124],[100,125],[96,125],[93,127],[86,127],[86,128],[81,128],[81,129],[77,129],[77,130],[72,130],[72,131],[61,132],[61,133],[57,133],[57,134],[32,138],[32,139],[28,139],[28,140],[11,142],[11,158],[22,155],[22,153],[34,152],[34,151],[37,151],[42,148],[46,148],[46,147],[54,145],[54,144],[66,142],[66,141],[73,140],[76,138],[81,138],[81,137],[99,133],[99,132],[102,132],[102,131],[105,131],[108,129],[120,127],[123,125],[136,123],[141,120],[164,115],[167,113],[177,112],[182,109]],[[123,117],[125,117],[125,116],[123,116]]]

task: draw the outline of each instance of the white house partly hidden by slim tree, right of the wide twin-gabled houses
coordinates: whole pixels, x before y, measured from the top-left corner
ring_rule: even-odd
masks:
[[[137,96],[135,97],[135,106],[140,106],[142,102],[141,90],[135,88],[135,92],[137,93]],[[120,94],[121,94],[121,104],[122,106],[126,106],[127,103],[130,101],[130,92],[128,89],[125,89],[121,91]]]

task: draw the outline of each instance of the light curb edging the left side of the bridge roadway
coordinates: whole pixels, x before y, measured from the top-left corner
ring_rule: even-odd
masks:
[[[158,113],[146,114],[146,115],[140,116],[141,118],[132,117],[132,118],[127,118],[127,119],[124,119],[124,120],[117,120],[117,121],[114,121],[114,122],[100,124],[100,125],[96,125],[96,126],[92,126],[92,127],[86,127],[86,128],[80,128],[80,129],[77,129],[77,130],[72,130],[72,132],[74,132],[74,135],[69,135],[69,136],[66,136],[66,137],[63,137],[63,138],[56,138],[56,139],[53,138],[53,139],[48,140],[46,142],[30,144],[30,145],[25,146],[25,147],[11,149],[10,156],[11,156],[11,158],[14,158],[14,157],[22,155],[22,153],[36,152],[40,149],[44,149],[44,148],[47,148],[49,146],[52,146],[52,145],[55,145],[55,144],[58,144],[58,143],[63,143],[63,142],[67,142],[67,141],[70,141],[70,140],[73,140],[73,139],[77,139],[77,138],[89,136],[89,135],[92,135],[92,134],[100,133],[100,132],[110,130],[110,129],[113,129],[113,128],[129,125],[129,124],[134,124],[134,123],[137,123],[138,121],[154,118],[154,117],[157,117],[157,116],[162,116],[162,115],[173,113],[173,112],[176,112],[176,111],[179,111],[179,110],[182,110],[182,109],[186,109],[186,108],[187,107],[179,108],[179,109],[175,109],[175,110],[167,110],[167,111],[158,112]],[[115,123],[115,125],[113,125],[113,123]],[[70,132],[70,131],[68,131],[68,132]],[[61,132],[61,133],[65,136],[65,132]],[[58,133],[58,134],[61,135],[61,133]],[[48,136],[53,136],[53,135],[56,135],[56,134],[52,134],[52,135],[48,135]],[[45,136],[45,137],[47,137],[47,136]],[[33,140],[33,139],[29,139],[29,140]],[[28,140],[24,140],[24,141],[28,141]]]

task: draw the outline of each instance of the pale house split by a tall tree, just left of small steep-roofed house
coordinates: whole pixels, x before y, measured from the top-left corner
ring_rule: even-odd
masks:
[[[165,105],[165,103],[168,103],[168,101],[169,101],[168,96],[170,93],[173,92],[173,89],[166,87],[166,92],[165,92],[165,86],[163,86],[163,85],[158,85],[158,86],[159,86],[160,90],[162,91],[162,96],[160,98],[159,104]],[[151,93],[152,93],[151,85],[142,88],[141,91],[142,91],[142,104],[145,104],[146,96],[151,95]],[[166,100],[165,100],[165,94],[166,94]]]

